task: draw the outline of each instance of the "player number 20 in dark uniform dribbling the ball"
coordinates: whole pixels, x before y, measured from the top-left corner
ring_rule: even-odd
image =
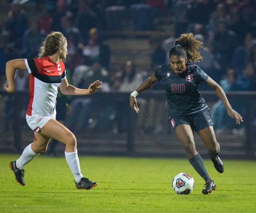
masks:
[[[131,93],[130,106],[138,113],[136,96],[157,81],[163,83],[168,101],[170,123],[186,151],[190,164],[206,182],[202,193],[208,194],[216,189],[216,185],[210,178],[201,156],[196,151],[194,131],[198,133],[209,150],[208,155],[215,169],[219,173],[223,173],[224,166],[219,158],[220,145],[215,137],[211,112],[198,91],[198,85],[205,83],[212,88],[225,105],[228,115],[236,119],[237,124],[243,120],[241,115],[232,109],[221,86],[200,67],[187,63],[188,61],[198,62],[202,59],[199,52],[199,48],[202,48],[201,45],[202,42],[196,40],[192,33],[181,34],[169,52],[170,64],[159,66],[150,78]]]

